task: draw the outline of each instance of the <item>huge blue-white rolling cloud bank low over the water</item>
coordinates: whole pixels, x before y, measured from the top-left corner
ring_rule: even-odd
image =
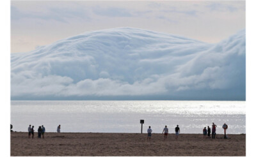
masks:
[[[220,43],[135,28],[12,54],[12,100],[245,100],[245,30]]]

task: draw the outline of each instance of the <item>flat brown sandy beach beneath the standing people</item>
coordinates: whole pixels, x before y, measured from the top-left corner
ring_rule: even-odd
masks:
[[[202,134],[161,133],[45,133],[45,138],[28,138],[28,133],[11,133],[11,156],[245,156],[246,135],[228,139],[203,138]]]

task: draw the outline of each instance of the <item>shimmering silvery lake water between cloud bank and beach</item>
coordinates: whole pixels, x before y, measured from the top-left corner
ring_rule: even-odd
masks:
[[[151,126],[161,133],[165,125],[174,133],[202,133],[214,122],[216,133],[228,124],[227,133],[245,133],[245,101],[11,101],[14,131],[28,131],[29,124],[44,124],[46,131],[143,133]]]

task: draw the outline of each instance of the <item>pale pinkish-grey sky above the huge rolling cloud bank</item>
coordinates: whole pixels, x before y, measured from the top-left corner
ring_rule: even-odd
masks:
[[[11,52],[136,27],[218,43],[245,28],[245,1],[11,1]]]

